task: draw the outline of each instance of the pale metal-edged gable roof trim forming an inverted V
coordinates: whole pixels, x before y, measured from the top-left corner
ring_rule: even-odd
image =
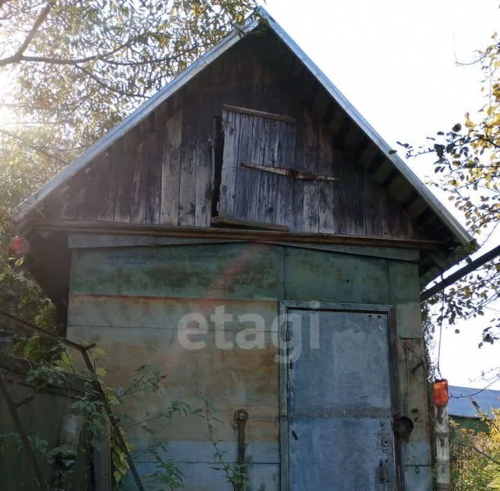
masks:
[[[272,17],[263,8],[257,8],[252,16],[250,16],[243,26],[232,33],[224,37],[219,44],[214,46],[211,50],[207,51],[202,57],[200,57],[196,62],[191,64],[188,68],[180,73],[172,82],[167,84],[163,89],[158,91],[153,95],[147,102],[133,111],[127,118],[125,118],[120,124],[117,124],[113,129],[111,129],[104,137],[100,138],[95,142],[89,149],[84,151],[82,155],[73,160],[67,167],[65,167],[62,172],[59,172],[57,176],[48,181],[44,186],[34,192],[31,196],[26,198],[23,203],[18,205],[15,210],[13,210],[11,219],[15,223],[19,223],[26,216],[36,209],[37,205],[44,203],[46,198],[52,194],[55,189],[64,185],[69,179],[71,179],[75,174],[80,172],[86,165],[91,163],[91,161],[102,154],[102,152],[108,149],[114,142],[124,136],[125,133],[136,127],[142,120],[145,120],[153,111],[155,111],[160,104],[165,102],[174,93],[179,91],[183,86],[185,86],[190,80],[192,80],[198,73],[203,71],[205,67],[214,62],[215,59],[219,58],[223,53],[228,51],[232,46],[237,44],[243,35],[250,33],[252,30],[259,26],[259,22],[263,19],[268,25],[268,28],[272,30],[275,35],[281,39],[284,45],[290,50],[290,52],[297,57],[297,59],[302,62],[306,70],[315,77],[320,86],[326,91],[331,102],[340,106],[344,111],[347,118],[352,120],[358,128],[364,133],[365,136],[375,145],[378,150],[385,157],[385,161],[393,167],[393,172],[396,172],[401,176],[402,181],[411,188],[411,191],[419,196],[424,203],[425,210],[432,213],[437,219],[445,226],[447,231],[448,241],[454,242],[456,247],[452,251],[445,254],[443,257],[437,259],[435,262],[436,267],[431,268],[426,274],[427,280],[432,279],[436,276],[436,271],[439,269],[446,269],[453,263],[456,263],[459,259],[465,256],[463,251],[463,246],[472,241],[472,237],[465,231],[461,226],[459,221],[457,221],[450,212],[448,212],[445,207],[438,201],[438,199],[429,191],[429,189],[420,181],[420,179],[414,174],[414,172],[409,169],[409,167],[403,162],[403,160],[396,154],[390,154],[391,147],[382,139],[382,137],[371,127],[371,125],[364,120],[362,115],[353,107],[353,105],[346,100],[344,95],[335,87],[335,85],[328,80],[328,77],[322,73],[320,68],[318,68],[312,60],[304,53],[304,51],[295,44],[295,41],[291,39],[288,34],[277,24],[277,22],[272,19]]]

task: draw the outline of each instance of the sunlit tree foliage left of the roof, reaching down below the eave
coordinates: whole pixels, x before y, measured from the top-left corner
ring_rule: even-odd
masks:
[[[253,0],[0,0],[1,303],[15,288],[20,315],[50,324],[50,302],[8,258],[12,208],[253,7]]]

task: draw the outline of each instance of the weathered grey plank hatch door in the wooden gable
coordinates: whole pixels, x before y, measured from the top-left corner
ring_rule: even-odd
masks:
[[[243,167],[295,169],[295,119],[225,106],[219,216],[288,225],[293,178]]]

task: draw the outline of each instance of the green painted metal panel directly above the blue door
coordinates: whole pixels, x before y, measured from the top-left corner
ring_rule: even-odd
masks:
[[[287,248],[284,298],[389,304],[387,261]]]

